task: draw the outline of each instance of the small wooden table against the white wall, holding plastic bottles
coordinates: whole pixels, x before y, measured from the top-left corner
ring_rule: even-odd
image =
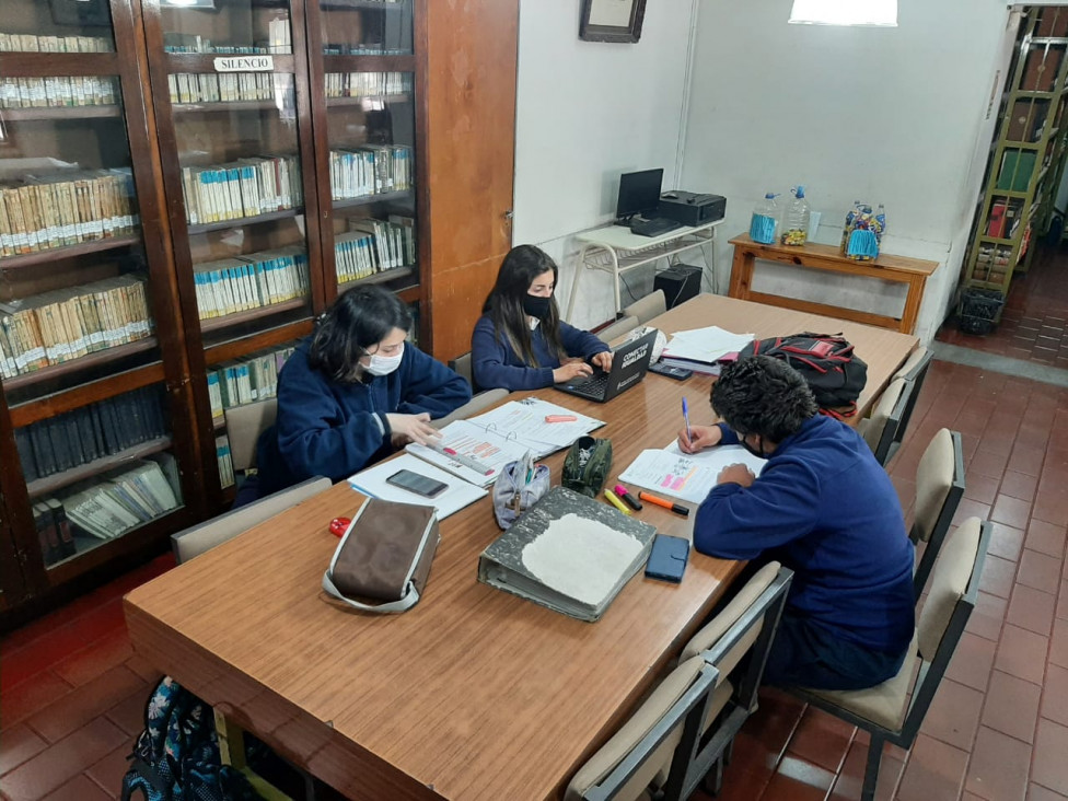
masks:
[[[887,253],[879,254],[874,262],[857,262],[841,255],[838,247],[833,245],[817,245],[808,243],[800,246],[762,245],[750,239],[748,234],[740,234],[731,240],[734,245],[734,265],[731,269],[731,298],[752,300],[785,309],[798,309],[814,314],[826,314],[843,320],[854,320],[859,323],[893,328],[905,334],[912,334],[916,328],[916,317],[919,304],[924,299],[924,287],[928,277],[938,269],[938,262],[927,262],[919,258],[892,256]],[[887,316],[872,312],[861,312],[856,309],[845,309],[828,303],[816,303],[800,298],[786,298],[765,292],[754,292],[753,267],[756,259],[763,258],[778,264],[797,265],[812,269],[844,272],[852,276],[864,276],[882,281],[904,283],[908,287],[905,295],[905,307],[901,316]]]

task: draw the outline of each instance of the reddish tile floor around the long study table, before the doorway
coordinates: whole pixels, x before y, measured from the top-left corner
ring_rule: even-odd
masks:
[[[891,464],[906,510],[943,426],[964,437],[959,518],[989,518],[996,533],[959,653],[912,752],[887,748],[878,796],[1068,800],[1068,390],[936,361]],[[155,678],[130,649],[119,599],[169,566],[161,557],[0,640],[3,799],[118,797]],[[852,727],[765,690],[721,798],[858,798],[864,748]]]

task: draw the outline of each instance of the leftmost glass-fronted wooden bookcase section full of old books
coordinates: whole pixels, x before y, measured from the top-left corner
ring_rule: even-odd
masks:
[[[191,481],[196,445],[183,414],[191,397],[134,9],[126,0],[8,0],[2,16],[7,622],[156,549],[160,531],[205,510]],[[140,400],[129,414],[166,428],[151,453],[120,446],[114,423],[111,438],[91,423],[94,409],[131,395]],[[106,514],[123,525],[100,529]]]

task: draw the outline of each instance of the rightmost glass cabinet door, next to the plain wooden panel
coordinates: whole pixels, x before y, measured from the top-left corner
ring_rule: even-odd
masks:
[[[324,262],[337,292],[382,282],[418,301],[413,2],[316,0],[316,144],[329,176]],[[324,206],[327,200],[324,199]]]

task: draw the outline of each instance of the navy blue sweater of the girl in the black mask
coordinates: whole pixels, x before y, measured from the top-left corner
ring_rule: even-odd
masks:
[[[560,344],[570,357],[589,359],[594,353],[608,350],[608,346],[593,334],[560,322]],[[542,325],[531,332],[531,346],[539,367],[527,364],[508,344],[488,314],[475,323],[471,335],[471,369],[475,386],[480,390],[503,387],[509,392],[516,390],[541,390],[553,386],[553,371],[560,367],[560,360],[549,352],[542,333]]]

